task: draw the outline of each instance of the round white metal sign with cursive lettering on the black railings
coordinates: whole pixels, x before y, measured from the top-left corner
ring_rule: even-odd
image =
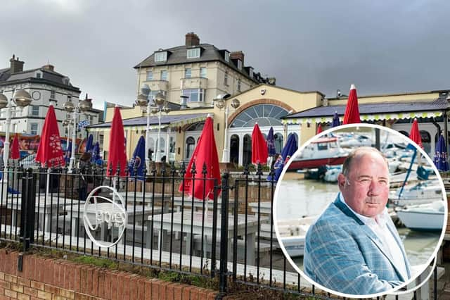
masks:
[[[96,196],[98,189],[109,189],[113,199]],[[103,202],[98,203],[97,199],[102,199]],[[120,242],[127,227],[127,218],[124,199],[113,187],[96,187],[84,203],[84,229],[89,239],[98,247],[110,248]],[[100,237],[95,237],[98,233]],[[109,242],[109,239],[112,242]]]

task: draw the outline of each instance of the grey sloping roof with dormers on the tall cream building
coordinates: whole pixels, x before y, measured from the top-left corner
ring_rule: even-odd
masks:
[[[200,57],[199,58],[187,58],[187,50],[200,48]],[[242,70],[238,69],[236,63],[230,59],[229,62],[225,61],[224,58],[224,50],[217,49],[216,46],[212,44],[199,44],[198,46],[175,46],[168,49],[160,49],[155,52],[168,51],[167,53],[167,61],[155,62],[155,53],[145,58],[141,63],[138,63],[134,66],[135,69],[145,68],[145,67],[155,67],[158,65],[180,65],[183,63],[200,63],[205,61],[220,61],[224,63],[224,65],[229,66],[236,72],[241,75],[247,77],[249,80],[253,82],[259,83],[258,77],[261,77],[260,74],[254,73],[254,77],[250,77],[248,68],[245,69],[244,66]],[[263,79],[261,77],[261,79]]]

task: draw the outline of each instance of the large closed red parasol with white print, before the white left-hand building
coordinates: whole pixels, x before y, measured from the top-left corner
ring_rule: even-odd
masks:
[[[47,164],[49,168],[64,165],[58,122],[56,121],[55,108],[52,105],[49,106],[49,111],[47,111],[45,116],[44,128],[42,129],[39,146],[37,146],[35,161],[39,161],[42,166]]]

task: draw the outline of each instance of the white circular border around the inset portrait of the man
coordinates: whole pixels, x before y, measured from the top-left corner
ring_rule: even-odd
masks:
[[[293,154],[293,156],[291,156],[291,158],[289,159],[288,163],[286,163],[285,167],[283,168],[283,171],[281,172],[281,175],[280,175],[281,180],[284,177],[284,175],[286,173],[286,170],[288,170],[290,163],[293,161],[293,158],[295,158],[297,155],[299,155],[301,153],[301,151],[303,151],[303,149],[307,145],[311,144],[311,142],[314,142],[314,140],[319,139],[319,137],[321,137],[323,135],[327,135],[328,133],[335,132],[335,131],[338,131],[338,130],[342,130],[342,129],[345,129],[345,128],[352,128],[352,127],[371,127],[371,128],[376,128],[376,129],[379,129],[379,130],[387,130],[388,132],[391,132],[394,135],[397,135],[397,136],[400,136],[400,137],[404,137],[404,139],[406,139],[406,140],[409,139],[408,137],[406,137],[404,135],[401,135],[401,133],[396,131],[396,130],[393,130],[393,129],[388,128],[388,127],[380,126],[380,125],[373,125],[373,124],[367,124],[367,123],[356,123],[356,124],[347,124],[347,125],[340,125],[340,126],[337,126],[337,127],[333,127],[333,128],[328,129],[328,130],[324,130],[319,135],[315,135],[314,137],[311,137],[311,139],[308,139],[306,142],[304,142],[304,144],[302,144],[302,146],[300,146],[297,149],[297,151],[295,151],[295,154]],[[433,163],[433,161],[428,156],[428,154],[426,154],[425,151],[423,151],[423,149],[421,149],[420,146],[418,146],[418,144],[413,142],[411,139],[409,139],[408,142],[413,144],[416,147],[416,149],[418,149],[420,151],[420,153],[423,154],[423,156],[428,161],[428,163],[430,164],[432,169],[435,171],[435,174],[437,175],[437,179],[439,180],[439,184],[441,185],[441,188],[442,188],[442,197],[445,197],[445,200],[446,200],[446,191],[445,191],[445,187],[444,187],[444,182],[442,182],[442,177],[439,174],[439,170],[437,170],[437,168],[435,166],[435,163]],[[298,268],[297,264],[294,263],[292,258],[290,258],[290,256],[288,255],[288,252],[286,251],[286,249],[285,249],[285,247],[283,245],[283,242],[281,242],[280,232],[278,231],[278,220],[276,218],[276,215],[277,215],[276,207],[277,207],[277,203],[278,203],[278,192],[279,192],[279,189],[280,189],[281,180],[278,180],[278,182],[276,184],[275,192],[274,192],[273,218],[274,218],[274,225],[275,225],[274,227],[275,227],[276,239],[278,240],[278,244],[281,246],[281,250],[283,251],[283,254],[284,254],[285,258],[289,261],[290,265],[293,266],[293,268],[297,271],[297,273],[302,275],[302,277],[304,277],[305,280],[307,280],[309,283],[311,283],[311,285],[319,287],[320,289],[323,289],[323,291],[325,291],[325,292],[329,292],[331,294],[335,294],[337,296],[342,296],[342,297],[346,297],[346,298],[373,298],[373,297],[383,296],[383,295],[386,295],[386,294],[391,294],[392,292],[396,292],[397,290],[401,289],[402,287],[406,287],[411,282],[413,282],[413,280],[416,280],[416,278],[418,276],[420,276],[420,274],[422,274],[425,271],[425,268],[427,268],[428,265],[430,265],[432,259],[437,257],[437,251],[439,251],[439,247],[441,246],[442,241],[444,239],[445,230],[446,230],[446,223],[442,224],[441,237],[439,238],[439,242],[437,242],[436,249],[433,252],[432,256],[430,256],[430,258],[428,258],[428,261],[425,263],[425,265],[426,265],[425,268],[423,268],[423,270],[418,272],[417,276],[411,277],[403,285],[399,285],[398,287],[394,287],[393,289],[390,289],[390,290],[387,290],[385,292],[381,292],[381,293],[378,293],[378,294],[361,294],[361,295],[344,294],[344,293],[341,293],[341,292],[334,291],[333,289],[329,289],[328,287],[323,287],[323,285],[319,285],[317,282],[314,282],[314,280],[311,280],[307,275],[305,275],[303,273],[302,270],[300,270],[300,268]],[[444,222],[446,222],[446,220],[448,218],[447,201],[444,201],[444,208],[445,208]],[[323,211],[321,213],[323,213]]]

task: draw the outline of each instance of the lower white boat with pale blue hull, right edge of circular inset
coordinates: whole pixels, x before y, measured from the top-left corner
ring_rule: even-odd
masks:
[[[413,230],[442,230],[444,226],[444,201],[406,206],[397,215],[406,227]]]

